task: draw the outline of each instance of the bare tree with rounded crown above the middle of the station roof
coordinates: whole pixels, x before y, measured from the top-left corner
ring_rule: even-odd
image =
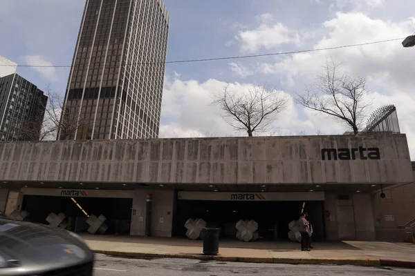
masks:
[[[235,92],[229,83],[213,101],[224,111],[222,117],[232,128],[246,131],[250,137],[253,132],[266,131],[287,103],[288,98],[277,90],[252,86],[248,92]]]

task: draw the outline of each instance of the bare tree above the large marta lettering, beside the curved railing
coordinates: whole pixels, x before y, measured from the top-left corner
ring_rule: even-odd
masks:
[[[297,94],[296,101],[308,109],[336,117],[356,135],[371,105],[367,99],[367,79],[350,77],[339,67],[340,63],[333,59],[326,61],[317,83],[306,88],[304,95]]]

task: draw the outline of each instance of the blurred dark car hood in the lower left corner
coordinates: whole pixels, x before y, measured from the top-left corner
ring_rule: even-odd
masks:
[[[89,262],[93,253],[67,230],[26,221],[0,219],[0,257],[28,270]]]

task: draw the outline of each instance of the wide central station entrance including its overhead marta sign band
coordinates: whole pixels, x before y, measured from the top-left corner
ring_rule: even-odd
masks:
[[[254,219],[261,239],[288,239],[288,224],[302,208],[313,225],[313,240],[324,233],[324,193],[204,193],[178,192],[174,235],[185,237],[187,219],[203,219],[221,228],[222,239],[236,239],[240,219]]]

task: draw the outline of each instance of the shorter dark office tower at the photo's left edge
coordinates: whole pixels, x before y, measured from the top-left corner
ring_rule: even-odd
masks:
[[[48,97],[17,74],[0,77],[0,141],[39,140]]]

